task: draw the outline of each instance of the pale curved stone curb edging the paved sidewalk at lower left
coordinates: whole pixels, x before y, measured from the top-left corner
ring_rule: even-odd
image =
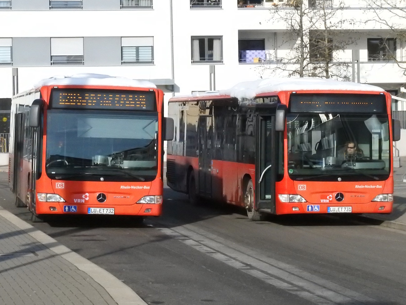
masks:
[[[8,220],[19,229],[26,232],[26,234],[35,238],[38,242],[45,247],[59,255],[60,257],[69,261],[79,270],[85,272],[94,281],[104,288],[108,294],[117,302],[118,305],[147,305],[147,303],[136,294],[130,287],[121,282],[117,277],[107,272],[103,268],[92,263],[88,259],[80,256],[78,253],[73,252],[71,249],[63,246],[54,238],[36,229],[28,222],[21,220],[13,213],[7,211],[0,206],[0,217]]]

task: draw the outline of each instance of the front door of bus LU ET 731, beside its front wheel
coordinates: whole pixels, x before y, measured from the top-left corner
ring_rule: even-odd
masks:
[[[255,208],[275,213],[275,116],[258,115],[255,161]]]

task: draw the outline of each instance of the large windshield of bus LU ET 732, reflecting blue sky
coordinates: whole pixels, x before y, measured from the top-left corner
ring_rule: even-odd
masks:
[[[81,181],[152,181],[158,168],[158,114],[48,110],[46,174]]]

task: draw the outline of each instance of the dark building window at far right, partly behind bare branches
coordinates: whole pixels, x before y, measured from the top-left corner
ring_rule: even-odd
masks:
[[[396,59],[396,38],[368,38],[368,61],[389,61]]]

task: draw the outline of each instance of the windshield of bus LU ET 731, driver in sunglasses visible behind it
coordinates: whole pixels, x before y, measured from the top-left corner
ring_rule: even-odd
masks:
[[[390,173],[387,114],[289,113],[287,170],[297,181],[382,181]]]

